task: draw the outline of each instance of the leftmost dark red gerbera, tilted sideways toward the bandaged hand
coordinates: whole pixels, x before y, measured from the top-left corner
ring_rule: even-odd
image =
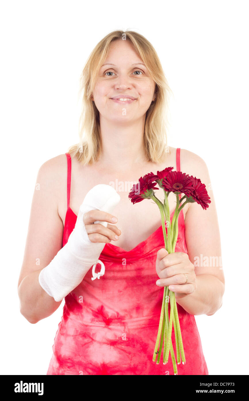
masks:
[[[143,199],[150,198],[153,195],[153,190],[159,189],[155,187],[156,182],[153,182],[154,177],[155,174],[150,172],[140,177],[138,183],[133,185],[128,195],[133,204],[141,202]]]

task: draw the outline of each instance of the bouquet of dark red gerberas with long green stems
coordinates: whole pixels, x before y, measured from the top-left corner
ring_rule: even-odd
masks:
[[[206,186],[205,184],[201,183],[199,178],[189,176],[181,171],[172,170],[173,167],[167,167],[162,171],[157,171],[157,174],[153,174],[152,172],[145,174],[145,176],[139,178],[139,182],[137,184],[133,185],[128,195],[133,204],[141,202],[143,199],[152,199],[157,204],[161,213],[165,249],[168,253],[175,252],[175,245],[178,237],[178,217],[181,209],[183,209],[183,207],[189,202],[197,202],[203,209],[206,210],[209,206],[208,204],[211,203],[210,197],[207,194]],[[156,185],[163,188],[163,203],[155,196],[154,190],[159,189],[156,187]],[[139,190],[137,190],[138,186]],[[170,221],[168,202],[168,196],[170,192],[173,192],[176,196],[176,207],[172,221]],[[179,198],[182,193],[184,196]],[[167,234],[165,229],[165,221],[167,223]],[[170,316],[168,312],[169,302]],[[157,364],[159,363],[163,348],[163,365],[165,365],[168,362],[170,351],[174,374],[177,375],[177,365],[175,362],[175,355],[171,340],[172,325],[175,332],[177,364],[179,365],[182,359],[182,363],[184,365],[186,360],[181,338],[181,329],[175,293],[170,291],[168,287],[164,287],[159,328],[152,360]]]

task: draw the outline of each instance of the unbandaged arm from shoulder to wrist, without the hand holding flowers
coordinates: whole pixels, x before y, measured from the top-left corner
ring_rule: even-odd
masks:
[[[200,178],[206,185],[211,203],[206,210],[203,210],[196,202],[188,204],[189,209],[185,217],[185,240],[189,261],[194,265],[197,288],[191,294],[184,294],[182,298],[177,298],[176,294],[176,301],[191,314],[210,316],[221,307],[225,291],[225,277],[219,263],[221,240],[215,200],[213,190],[210,188],[209,172],[203,159],[187,150],[181,150],[181,154],[182,171]],[[201,258],[204,259],[203,263]]]

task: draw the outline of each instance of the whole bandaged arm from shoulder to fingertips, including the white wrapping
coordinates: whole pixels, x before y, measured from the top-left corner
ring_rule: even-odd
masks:
[[[65,163],[66,158],[62,156]],[[113,223],[113,215],[107,212],[114,209],[120,196],[111,186],[99,184],[86,194],[74,230],[62,247],[64,227],[55,194],[60,193],[58,174],[66,176],[66,171],[64,164],[58,166],[58,162],[57,158],[48,160],[38,172],[40,188],[33,196],[18,281],[20,312],[30,323],[50,316],[97,263],[105,243],[121,233],[116,226],[108,224]],[[98,221],[100,224],[95,224]]]

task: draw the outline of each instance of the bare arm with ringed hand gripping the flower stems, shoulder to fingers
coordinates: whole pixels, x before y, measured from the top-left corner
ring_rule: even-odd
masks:
[[[188,207],[185,216],[187,253],[168,254],[166,249],[159,249],[156,271],[160,280],[156,284],[169,286],[175,293],[176,302],[188,313],[210,316],[221,307],[225,290],[215,201],[205,162],[187,150],[182,153],[181,170],[200,178],[206,185],[211,203],[206,210],[196,202],[185,205]]]

